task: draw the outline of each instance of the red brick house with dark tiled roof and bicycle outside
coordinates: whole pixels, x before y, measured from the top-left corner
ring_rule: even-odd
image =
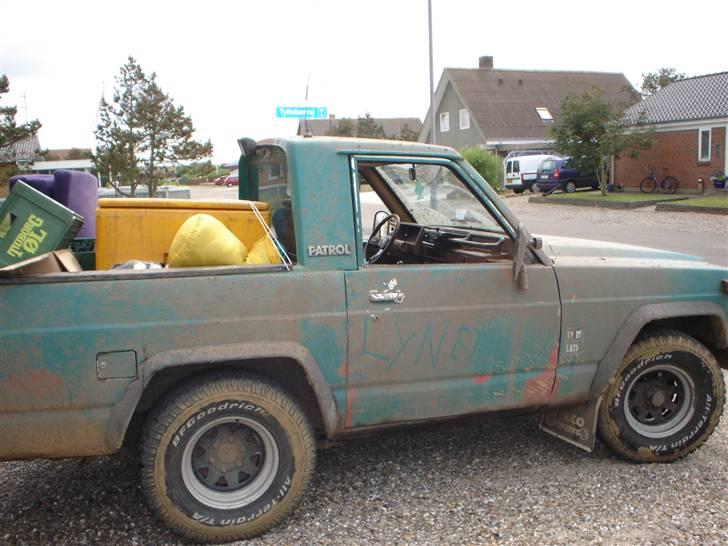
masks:
[[[677,178],[679,191],[699,192],[699,180],[712,188],[710,177],[728,172],[728,72],[685,78],[656,91],[625,112],[655,130],[655,144],[639,158],[614,161],[614,181],[637,189],[655,169]]]

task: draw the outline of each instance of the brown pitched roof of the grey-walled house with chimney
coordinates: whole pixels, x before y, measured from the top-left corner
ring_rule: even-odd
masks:
[[[442,86],[448,84],[488,140],[545,139],[548,122],[536,109],[547,108],[558,120],[561,101],[569,94],[596,87],[607,100],[625,107],[637,96],[624,74],[618,73],[446,68],[436,104],[444,95]]]

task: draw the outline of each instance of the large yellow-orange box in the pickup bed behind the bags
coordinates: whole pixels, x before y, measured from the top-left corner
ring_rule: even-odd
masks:
[[[253,201],[270,225],[268,203]],[[99,199],[96,209],[96,269],[111,269],[129,260],[167,263],[177,230],[193,214],[220,220],[245,246],[264,235],[251,201],[189,199]]]

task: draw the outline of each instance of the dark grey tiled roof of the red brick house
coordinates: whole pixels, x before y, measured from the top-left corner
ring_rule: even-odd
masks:
[[[625,112],[646,123],[669,123],[728,117],[728,72],[677,80]]]

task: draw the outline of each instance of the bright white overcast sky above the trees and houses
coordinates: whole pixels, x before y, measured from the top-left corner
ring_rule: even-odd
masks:
[[[622,72],[728,70],[728,2],[432,0],[435,85],[445,67]],[[295,134],[277,106],[336,117],[418,117],[429,105],[427,0],[33,0],[2,3],[2,105],[38,119],[43,148],[93,148],[98,104],[136,58],[210,139]],[[723,28],[721,31],[720,29]]]

